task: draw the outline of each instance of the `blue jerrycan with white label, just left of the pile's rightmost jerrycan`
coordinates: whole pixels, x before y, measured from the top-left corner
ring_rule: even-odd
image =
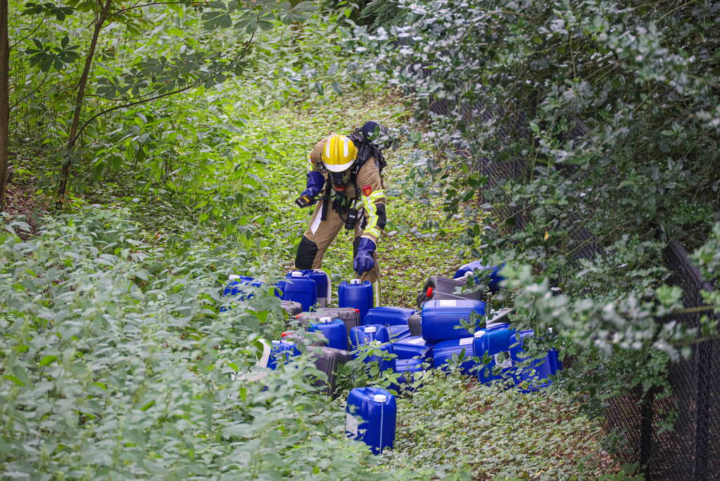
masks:
[[[490,329],[477,331],[472,341],[472,353],[482,359],[485,354],[490,356],[490,362],[477,370],[477,379],[480,382],[490,383],[503,379],[506,374],[516,371],[513,353],[517,356],[518,340],[515,329],[508,326],[495,326]],[[517,359],[517,357],[516,357]]]

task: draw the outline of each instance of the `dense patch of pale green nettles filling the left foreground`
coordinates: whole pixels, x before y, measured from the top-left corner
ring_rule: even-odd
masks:
[[[344,436],[309,356],[262,382],[275,297],[218,307],[232,246],[156,246],[127,212],[61,215],[30,240],[0,234],[0,464],[37,479],[355,477],[371,455]],[[202,238],[199,233],[195,238]],[[234,375],[239,374],[239,375]],[[372,477],[372,475],[368,474]],[[377,476],[376,476],[377,477]]]

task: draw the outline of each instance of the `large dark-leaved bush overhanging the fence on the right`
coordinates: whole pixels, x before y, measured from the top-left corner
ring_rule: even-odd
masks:
[[[697,333],[673,319],[683,306],[662,248],[715,238],[720,210],[720,11],[680,0],[399,3],[395,26],[358,27],[355,41],[380,78],[418,99],[426,128],[408,125],[407,137],[431,148],[408,156],[408,192],[442,192],[448,215],[471,221],[490,210],[492,228],[469,222],[465,235],[482,237],[489,264],[508,261],[495,304],[516,307],[539,351],[578,359],[564,385],[590,406],[665,386],[667,361]],[[714,245],[697,254],[708,278]]]

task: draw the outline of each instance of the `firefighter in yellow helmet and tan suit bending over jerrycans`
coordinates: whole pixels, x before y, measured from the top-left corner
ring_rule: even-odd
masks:
[[[353,269],[359,279],[372,282],[376,306],[380,302],[376,248],[387,221],[381,176],[384,139],[383,125],[366,122],[350,135],[320,140],[307,161],[307,186],[295,201],[300,207],[315,204],[297,248],[295,269],[318,269],[340,230],[354,230]]]

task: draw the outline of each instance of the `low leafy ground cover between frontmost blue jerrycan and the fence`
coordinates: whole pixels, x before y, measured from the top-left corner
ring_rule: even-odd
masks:
[[[390,467],[450,479],[598,479],[618,472],[599,449],[601,426],[577,409],[559,393],[523,394],[434,374],[398,401],[395,449],[382,457]]]

